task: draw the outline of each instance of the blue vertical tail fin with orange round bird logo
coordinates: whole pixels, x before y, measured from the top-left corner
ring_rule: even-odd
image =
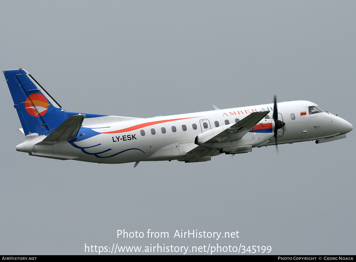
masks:
[[[25,135],[48,135],[69,117],[26,70],[3,72]]]

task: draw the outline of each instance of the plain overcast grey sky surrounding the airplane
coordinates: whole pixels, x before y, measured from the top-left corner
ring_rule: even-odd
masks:
[[[152,117],[309,100],[356,124],[355,1],[1,1],[1,70],[24,68],[67,111]],[[3,77],[3,76],[2,76]],[[3,77],[4,79],[4,77]],[[269,245],[355,254],[355,131],[210,162],[31,157],[2,81],[0,254],[84,244]],[[167,231],[122,239],[116,230]],[[177,239],[176,230],[239,231]]]

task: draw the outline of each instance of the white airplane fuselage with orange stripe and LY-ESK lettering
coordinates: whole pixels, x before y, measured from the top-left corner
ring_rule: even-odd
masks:
[[[308,107],[317,106],[309,101],[281,102],[277,106],[278,119],[286,123],[283,128],[278,129],[278,144],[334,137],[352,129],[350,123],[329,112],[309,114]],[[110,117],[85,118],[78,137],[72,141],[60,141],[50,146],[35,145],[45,138],[42,135],[28,137],[17,148],[31,155],[98,163],[182,161],[187,156],[186,153],[197,146],[194,139],[199,134],[216,126],[238,122],[257,111],[271,111],[266,118],[272,119],[273,104],[118,122],[105,122]],[[255,137],[251,135],[256,133],[250,137],[248,135],[250,134],[247,133],[246,139],[252,141]],[[234,141],[229,143],[237,144]],[[252,147],[275,144],[272,134],[263,143],[252,144]],[[221,152],[211,151],[206,156],[218,154]]]

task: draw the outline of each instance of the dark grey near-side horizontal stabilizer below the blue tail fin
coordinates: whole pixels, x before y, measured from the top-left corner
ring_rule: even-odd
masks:
[[[77,137],[85,114],[70,116],[59,127],[52,131],[45,139],[36,145],[53,145],[58,141],[68,141]]]

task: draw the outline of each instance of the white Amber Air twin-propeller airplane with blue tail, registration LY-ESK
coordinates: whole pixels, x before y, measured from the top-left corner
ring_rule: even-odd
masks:
[[[202,162],[220,154],[346,138],[352,125],[309,101],[136,118],[65,111],[25,70],[3,71],[25,141],[16,150],[60,160],[120,164]],[[278,109],[277,109],[278,107]]]

